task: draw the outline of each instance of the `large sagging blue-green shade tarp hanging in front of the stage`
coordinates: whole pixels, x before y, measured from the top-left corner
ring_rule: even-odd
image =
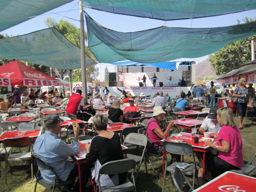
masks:
[[[256,22],[218,28],[161,26],[124,33],[104,28],[87,14],[85,16],[88,48],[98,62],[103,63],[123,60],[158,63],[178,58],[198,58],[256,33]]]

